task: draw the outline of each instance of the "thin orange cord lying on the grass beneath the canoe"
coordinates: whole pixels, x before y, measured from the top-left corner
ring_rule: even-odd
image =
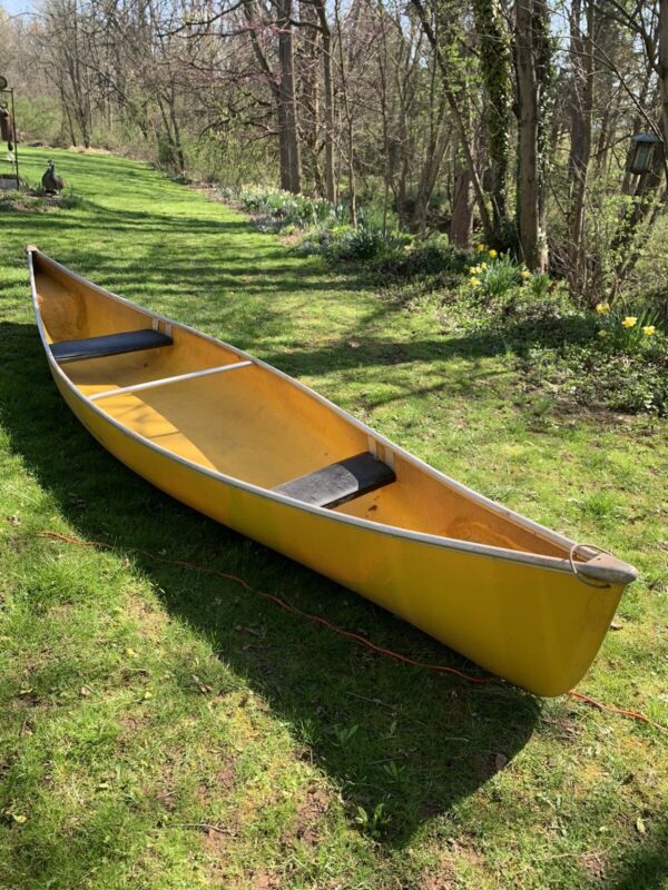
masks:
[[[114,550],[112,544],[107,544],[104,541],[81,541],[77,537],[69,537],[68,535],[62,535],[59,532],[51,532],[49,530],[39,533],[42,537],[50,537],[56,541],[60,541],[63,544],[75,544],[79,547],[100,547],[102,550]],[[244,590],[256,593],[259,596],[264,597],[265,600],[271,600],[271,602],[278,605],[281,609],[284,609],[286,612],[291,612],[293,615],[298,615],[302,619],[306,619],[307,621],[313,621],[316,624],[322,624],[327,630],[333,631],[334,633],[338,634],[340,636],[345,636],[348,640],[354,640],[360,645],[366,646],[372,652],[377,652],[381,655],[387,655],[395,661],[403,662],[404,664],[411,664],[414,668],[423,668],[429,671],[436,671],[438,673],[446,673],[446,674],[454,674],[459,676],[461,680],[465,680],[468,683],[475,683],[478,685],[501,685],[503,681],[498,680],[495,678],[484,678],[484,676],[473,676],[471,674],[463,673],[462,671],[458,671],[455,668],[448,668],[444,664],[429,664],[426,662],[415,661],[415,659],[411,659],[407,655],[402,655],[399,652],[393,652],[391,649],[384,649],[383,646],[379,646],[375,643],[372,643],[371,640],[362,636],[361,634],[353,633],[352,631],[344,631],[342,627],[337,627],[335,624],[332,624],[326,619],[321,617],[320,615],[312,615],[308,612],[303,612],[301,609],[288,603],[286,600],[281,599],[279,596],[274,596],[272,593],[265,593],[264,591],[256,590],[252,587],[246,581],[236,575],[227,574],[226,572],[218,572],[215,568],[207,568],[204,565],[198,565],[197,563],[186,562],[184,560],[168,560],[164,556],[159,556],[156,553],[150,553],[149,551],[141,550],[139,547],[126,547],[126,550],[131,551],[132,553],[140,553],[143,556],[147,556],[149,560],[154,560],[155,562],[159,563],[167,563],[168,565],[178,565],[181,568],[189,568],[195,572],[203,572],[206,575],[216,575],[217,577],[225,578],[226,581],[233,581],[236,584],[240,584]],[[621,716],[629,716],[633,720],[638,720],[641,723],[647,723],[649,726],[654,726],[655,729],[659,730],[660,732],[668,732],[668,728],[662,726],[660,723],[656,723],[654,720],[650,720],[645,714],[640,714],[636,711],[627,711],[623,708],[616,708],[612,704],[605,704],[603,702],[599,702],[596,699],[592,699],[589,695],[586,695],[583,692],[577,692],[576,690],[570,690],[568,695],[571,695],[573,699],[578,701],[584,702],[586,704],[591,705],[592,708],[598,708],[600,711],[608,711],[612,714],[620,714]]]

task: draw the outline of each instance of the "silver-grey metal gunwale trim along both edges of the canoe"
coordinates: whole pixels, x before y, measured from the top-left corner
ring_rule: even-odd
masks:
[[[36,287],[36,281],[35,281],[35,267],[33,267],[33,263],[32,263],[32,255],[33,254],[39,254],[40,258],[43,259],[47,263],[47,265],[56,267],[57,269],[62,271],[65,275],[69,276],[70,278],[73,278],[75,280],[79,281],[80,284],[85,285],[86,287],[91,287],[94,290],[98,291],[102,296],[116,299],[119,303],[122,303],[122,304],[125,304],[127,306],[130,306],[132,309],[136,309],[136,310],[140,312],[143,315],[145,315],[148,318],[157,318],[160,322],[165,322],[166,324],[175,325],[176,327],[179,327],[179,328],[181,328],[184,330],[187,330],[187,332],[189,332],[191,334],[195,334],[196,336],[203,337],[203,338],[205,338],[205,339],[207,339],[207,340],[209,340],[209,342],[212,342],[212,343],[214,343],[214,344],[216,344],[218,346],[223,346],[224,348],[229,349],[229,352],[232,352],[235,355],[237,355],[239,358],[248,359],[254,365],[256,365],[257,367],[262,367],[262,368],[264,368],[265,370],[267,370],[267,372],[269,372],[272,374],[276,374],[277,376],[279,376],[283,379],[285,379],[288,383],[291,383],[293,386],[298,387],[299,389],[305,392],[311,397],[317,399],[323,405],[326,405],[327,407],[330,407],[331,409],[336,412],[340,416],[344,417],[346,422],[352,423],[358,429],[361,429],[364,433],[366,433],[366,435],[371,436],[376,442],[381,443],[384,447],[390,448],[391,452],[393,452],[394,454],[400,455],[403,459],[409,461],[410,463],[412,463],[415,466],[420,467],[422,471],[426,472],[429,475],[433,476],[434,478],[439,479],[442,483],[445,483],[449,487],[453,488],[454,491],[458,491],[461,494],[464,494],[466,497],[471,498],[472,501],[475,501],[477,503],[482,504],[483,506],[485,506],[487,508],[493,511],[494,513],[504,516],[505,518],[508,518],[511,522],[513,522],[515,525],[520,525],[521,527],[524,527],[524,528],[528,528],[529,531],[534,532],[540,537],[543,537],[543,538],[546,538],[546,540],[548,540],[548,541],[550,541],[550,542],[552,542],[554,544],[558,544],[558,545],[564,547],[568,552],[570,552],[571,547],[576,543],[576,542],[571,541],[570,538],[567,538],[567,537],[558,534],[557,532],[552,532],[550,528],[547,528],[546,526],[542,526],[539,523],[536,523],[532,520],[529,520],[525,516],[522,516],[521,514],[515,513],[514,511],[509,510],[508,507],[504,507],[501,504],[498,504],[495,501],[492,501],[491,498],[479,494],[478,492],[473,491],[472,488],[469,488],[468,486],[463,485],[462,483],[450,478],[444,473],[441,473],[440,471],[434,469],[434,467],[432,467],[429,464],[424,463],[419,457],[415,457],[414,455],[412,455],[409,452],[404,451],[404,448],[402,448],[401,446],[395,445],[391,439],[386,438],[385,436],[383,436],[380,433],[376,433],[374,429],[372,429],[371,427],[366,426],[366,424],[362,423],[361,421],[357,421],[355,417],[350,415],[347,412],[343,411],[337,405],[335,405],[334,403],[330,402],[330,399],[327,399],[324,396],[320,395],[318,393],[316,393],[314,389],[312,389],[311,387],[306,386],[305,384],[302,384],[299,380],[295,380],[295,378],[291,377],[288,374],[285,374],[284,372],[279,370],[278,368],[273,367],[273,365],[269,365],[266,362],[263,362],[262,359],[250,355],[249,353],[244,352],[243,349],[238,349],[235,346],[232,346],[232,345],[229,345],[229,344],[227,344],[227,343],[225,343],[223,340],[219,340],[216,337],[212,337],[208,334],[204,334],[203,332],[197,330],[196,328],[193,328],[193,327],[190,327],[188,325],[181,324],[180,322],[174,322],[173,319],[167,318],[166,316],[159,315],[158,313],[149,312],[149,310],[145,309],[144,307],[138,306],[136,303],[132,303],[132,300],[126,299],[125,297],[121,297],[118,294],[114,294],[112,291],[107,290],[106,288],[102,288],[99,285],[94,284],[92,281],[89,281],[88,279],[84,278],[82,276],[78,275],[77,273],[71,271],[70,269],[68,269],[62,264],[58,263],[55,259],[51,259],[46,254],[42,254],[37,247],[35,247],[32,245],[29,245],[26,249],[27,249],[27,254],[28,254],[28,268],[29,268],[29,274],[30,274],[30,286],[31,286],[31,291],[32,291],[32,306],[33,306],[33,310],[35,310],[35,315],[36,315],[37,327],[38,327],[38,330],[39,330],[39,334],[40,334],[40,337],[41,337],[41,340],[42,340],[42,346],[45,347],[45,353],[47,355],[47,362],[49,363],[49,366],[50,366],[51,370],[56,373],[56,376],[59,377],[65,383],[65,385],[69,389],[69,392],[79,402],[81,402],[85,405],[87,405],[90,409],[92,409],[96,414],[98,414],[101,419],[107,422],[109,425],[116,427],[117,429],[119,429],[121,433],[124,433],[128,437],[134,438],[136,442],[141,443],[147,448],[149,448],[151,451],[155,451],[158,454],[160,454],[160,455],[163,455],[165,457],[168,457],[171,461],[176,461],[177,463],[188,467],[189,469],[193,469],[193,471],[195,471],[195,472],[197,472],[197,473],[199,473],[202,475],[209,476],[210,478],[214,478],[216,481],[224,482],[224,483],[226,483],[226,484],[228,484],[228,485],[230,485],[230,486],[233,486],[235,488],[240,488],[242,491],[250,492],[250,493],[253,493],[255,495],[258,495],[261,497],[266,497],[266,498],[268,498],[271,501],[277,501],[277,502],[283,503],[283,504],[285,504],[287,506],[291,506],[293,508],[297,508],[297,510],[304,511],[306,513],[313,513],[313,514],[315,514],[317,516],[321,516],[321,517],[322,516],[326,516],[330,521],[334,521],[334,522],[340,522],[340,523],[344,523],[344,524],[347,524],[347,525],[357,526],[357,527],[364,528],[365,531],[371,532],[373,534],[389,535],[391,537],[405,538],[405,540],[409,540],[409,541],[414,541],[416,543],[428,544],[430,546],[439,547],[439,548],[442,548],[442,550],[463,551],[465,553],[471,553],[471,554],[474,554],[474,555],[478,555],[478,556],[485,556],[485,557],[489,557],[489,558],[501,558],[501,560],[504,560],[504,561],[508,561],[508,562],[514,562],[514,563],[520,563],[520,564],[524,564],[524,565],[531,565],[531,566],[534,566],[534,567],[548,568],[550,571],[566,572],[567,574],[570,574],[570,575],[573,574],[568,556],[566,556],[564,558],[559,558],[557,556],[547,556],[547,555],[543,555],[543,554],[527,553],[524,551],[511,551],[511,550],[508,550],[505,547],[495,547],[495,546],[492,546],[490,544],[474,544],[474,543],[471,543],[471,542],[468,542],[468,541],[460,541],[458,538],[444,537],[444,536],[441,536],[441,535],[431,535],[431,534],[425,533],[425,532],[414,532],[414,531],[411,531],[409,528],[400,528],[400,527],[393,526],[393,525],[384,525],[382,523],[374,523],[374,522],[371,522],[369,520],[360,518],[357,516],[350,516],[350,515],[346,515],[346,514],[343,514],[343,513],[335,513],[334,511],[325,510],[324,507],[316,507],[316,506],[313,506],[313,505],[310,505],[310,504],[304,504],[301,501],[296,501],[293,497],[288,497],[287,495],[281,494],[278,492],[274,492],[274,491],[272,491],[269,488],[263,488],[263,487],[261,487],[258,485],[254,485],[253,483],[244,482],[243,479],[238,479],[235,476],[228,476],[228,475],[226,475],[224,473],[219,473],[217,471],[209,469],[208,467],[204,467],[200,464],[196,464],[193,461],[189,461],[189,459],[187,459],[185,457],[181,457],[180,455],[175,454],[174,452],[170,452],[169,449],[164,448],[160,445],[157,445],[156,443],[151,442],[150,439],[146,438],[145,436],[140,435],[139,433],[136,433],[135,431],[129,429],[127,426],[124,426],[118,421],[116,421],[115,418],[110,417],[106,412],[101,411],[88,396],[85,396],[72,384],[72,382],[69,379],[69,377],[65,374],[65,372],[60,368],[60,366],[58,365],[56,359],[52,357],[51,350],[49,348],[49,343],[47,340],[47,335],[46,335],[46,329],[45,329],[45,326],[43,326],[43,322],[41,319],[41,314],[40,314],[40,310],[39,310],[39,306],[38,306],[38,303],[37,303],[37,287]],[[596,555],[596,554],[592,553],[592,555]],[[628,568],[629,582],[632,581],[636,577],[636,574],[637,574],[636,570],[632,566],[628,565],[627,563],[623,563],[622,561],[617,561],[617,562],[623,568]],[[583,563],[582,565],[586,565],[586,563]],[[600,572],[597,572],[597,576],[600,577],[601,580],[605,580],[605,577],[606,577],[605,570],[600,570]]]

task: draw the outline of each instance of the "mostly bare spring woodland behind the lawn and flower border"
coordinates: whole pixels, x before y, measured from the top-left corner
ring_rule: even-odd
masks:
[[[662,141],[628,167],[631,135],[668,132],[668,0],[45,0],[0,10],[0,48],[26,139],[279,184],[383,236],[508,249],[590,308],[665,307]]]

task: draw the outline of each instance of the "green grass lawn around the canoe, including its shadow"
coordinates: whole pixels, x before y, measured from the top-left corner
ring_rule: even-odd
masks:
[[[0,887],[668,888],[668,736],[399,664],[137,553],[477,670],[104,452],[51,383],[23,247],[255,353],[449,475],[637,565],[580,689],[664,724],[666,423],[569,409],[528,385],[502,339],[297,257],[141,164],[23,150],[24,175],[36,182],[50,156],[81,200],[0,211]]]

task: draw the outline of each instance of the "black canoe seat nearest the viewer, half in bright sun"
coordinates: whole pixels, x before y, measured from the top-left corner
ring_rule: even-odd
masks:
[[[335,507],[395,479],[387,464],[363,452],[277,485],[274,491],[316,507]]]

